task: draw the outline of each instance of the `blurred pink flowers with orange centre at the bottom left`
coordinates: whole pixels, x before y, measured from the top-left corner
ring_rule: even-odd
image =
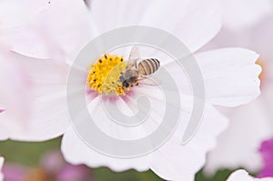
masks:
[[[58,151],[42,157],[40,166],[26,167],[6,163],[3,167],[8,181],[92,181],[93,176],[86,166],[72,166]]]

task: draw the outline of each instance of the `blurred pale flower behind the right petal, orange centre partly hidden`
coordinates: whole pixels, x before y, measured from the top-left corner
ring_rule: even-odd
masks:
[[[235,4],[236,5],[236,4]],[[256,50],[260,57],[257,64],[262,65],[261,96],[247,106],[235,109],[221,109],[230,119],[227,130],[217,141],[217,148],[207,160],[207,173],[214,173],[218,168],[236,169],[240,166],[251,172],[258,172],[262,166],[262,159],[258,147],[263,140],[273,135],[272,113],[269,109],[273,105],[272,99],[272,28],[273,14],[257,22],[256,25],[228,29],[224,26],[217,37],[204,49],[236,45]],[[243,130],[243,131],[242,131]]]

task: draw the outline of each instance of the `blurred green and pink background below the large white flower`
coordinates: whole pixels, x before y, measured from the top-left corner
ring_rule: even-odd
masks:
[[[106,167],[88,168],[70,166],[60,154],[61,137],[39,142],[0,142],[1,155],[5,157],[3,172],[5,181],[160,181],[152,171],[138,173],[128,170],[112,172]],[[49,162],[49,163],[48,163]],[[57,167],[56,167],[57,166]],[[67,168],[68,167],[68,168]],[[50,169],[55,172],[50,172]],[[69,176],[66,171],[69,170]],[[50,176],[49,173],[50,172]],[[219,170],[213,177],[199,171],[197,181],[226,180],[232,170]],[[48,176],[46,176],[48,175]]]

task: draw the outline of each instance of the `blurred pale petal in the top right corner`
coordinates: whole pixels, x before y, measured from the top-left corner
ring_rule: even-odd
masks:
[[[255,25],[273,10],[271,0],[224,0],[224,25],[239,30]]]

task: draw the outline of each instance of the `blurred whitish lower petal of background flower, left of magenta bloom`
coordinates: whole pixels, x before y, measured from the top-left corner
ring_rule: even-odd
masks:
[[[207,157],[205,171],[214,174],[217,169],[235,169],[238,166],[258,172],[262,166],[258,148],[262,141],[272,136],[271,112],[268,102],[271,92],[260,96],[247,106],[224,109],[230,119],[227,130],[217,139],[217,147]]]

